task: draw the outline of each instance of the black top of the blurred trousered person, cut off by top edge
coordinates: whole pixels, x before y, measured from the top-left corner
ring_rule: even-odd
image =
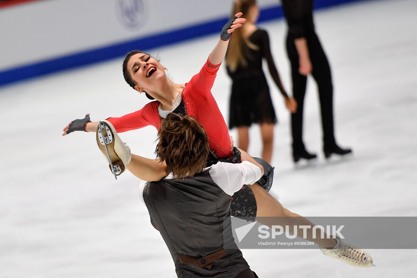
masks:
[[[281,0],[281,3],[289,27],[289,35],[301,38],[309,32],[314,32],[314,0]]]

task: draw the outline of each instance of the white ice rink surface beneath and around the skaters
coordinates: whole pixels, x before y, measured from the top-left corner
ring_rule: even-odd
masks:
[[[354,155],[324,160],[316,85],[309,78],[304,138],[319,158],[294,167],[289,114],[269,82],[279,117],[271,193],[284,207],[306,217],[417,215],[416,18],[415,0],[358,2],[315,13],[332,66],[337,141],[352,147]],[[286,25],[281,19],[260,27],[269,31],[276,64],[291,91]],[[151,54],[159,53],[174,82],[185,83],[217,40],[218,35],[210,35]],[[122,61],[0,88],[1,278],[176,277],[168,249],[139,201],[139,180],[130,173],[114,180],[95,134],[61,136],[69,121],[86,113],[94,121],[136,111],[148,102],[123,80]],[[229,87],[223,66],[212,92],[226,122]],[[154,157],[153,127],[120,136],[134,154]],[[249,153],[260,152],[259,127],[253,126]],[[345,265],[319,250],[242,252],[260,278],[417,273],[417,250],[369,250],[377,267],[367,269]]]

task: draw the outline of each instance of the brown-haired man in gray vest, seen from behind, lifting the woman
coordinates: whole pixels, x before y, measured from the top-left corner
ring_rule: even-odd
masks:
[[[114,141],[121,142],[112,124],[104,123],[106,136],[111,133]],[[231,195],[243,184],[260,179],[263,167],[243,151],[242,163],[206,167],[208,137],[191,116],[168,114],[158,139],[155,153],[168,176],[141,182],[140,196],[171,253],[178,277],[257,277],[234,243],[230,221],[224,219],[230,216]]]

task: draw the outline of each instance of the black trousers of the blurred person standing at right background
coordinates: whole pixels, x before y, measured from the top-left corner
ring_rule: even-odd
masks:
[[[298,72],[299,56],[294,44],[294,39],[295,38],[291,35],[287,35],[286,48],[288,58],[291,62],[293,96],[298,103],[297,112],[291,114],[291,131],[293,139],[292,147],[293,151],[299,152],[304,150],[302,129],[304,95],[306,94],[307,77]],[[332,74],[330,73],[330,66],[327,61],[326,54],[323,51],[322,45],[320,44],[316,33],[309,32],[309,34],[306,35],[306,40],[309,48],[311,63],[313,65],[313,71],[311,74],[316,80],[319,89],[324,148],[332,147],[336,144],[333,131]]]

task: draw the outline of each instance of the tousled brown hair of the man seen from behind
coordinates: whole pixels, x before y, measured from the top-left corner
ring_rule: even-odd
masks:
[[[155,154],[174,178],[193,177],[207,164],[209,145],[203,126],[191,116],[170,113],[158,131]]]

